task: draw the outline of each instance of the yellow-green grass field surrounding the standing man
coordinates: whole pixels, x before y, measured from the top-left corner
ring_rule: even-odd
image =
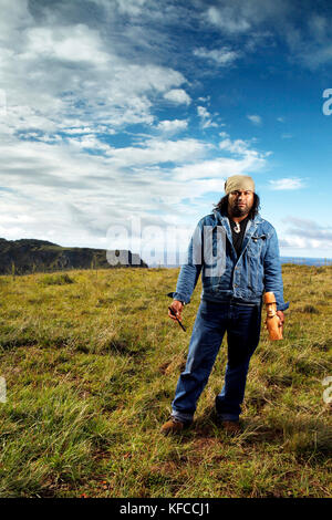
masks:
[[[237,437],[215,423],[225,341],[194,426],[159,433],[200,280],[184,333],[167,316],[178,269],[0,277],[0,496],[331,497],[332,267],[282,269],[284,340],[262,330]]]

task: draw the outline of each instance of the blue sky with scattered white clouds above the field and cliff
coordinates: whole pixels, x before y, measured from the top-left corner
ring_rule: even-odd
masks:
[[[242,174],[283,257],[332,258],[331,2],[0,8],[0,237],[151,263]]]

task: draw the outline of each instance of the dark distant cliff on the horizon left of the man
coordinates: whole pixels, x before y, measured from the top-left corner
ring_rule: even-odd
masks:
[[[106,253],[110,261],[107,261]],[[148,266],[141,260],[138,254],[132,254],[131,251],[125,250],[63,248],[46,240],[0,238],[0,274],[70,269],[114,269],[116,267],[147,268]]]

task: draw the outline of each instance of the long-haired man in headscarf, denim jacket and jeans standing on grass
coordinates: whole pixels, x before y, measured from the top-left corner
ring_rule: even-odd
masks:
[[[191,237],[188,261],[178,277],[172,309],[181,321],[201,271],[201,301],[189,352],[180,374],[172,416],[162,427],[167,435],[193,423],[197,401],[205,388],[227,332],[228,360],[225,384],[216,396],[216,412],[227,433],[241,430],[239,415],[249,362],[260,335],[263,291],[274,293],[279,326],[283,326],[283,284],[276,230],[258,212],[255,183],[234,175],[225,183],[226,196],[203,217]],[[170,311],[168,316],[176,320]]]

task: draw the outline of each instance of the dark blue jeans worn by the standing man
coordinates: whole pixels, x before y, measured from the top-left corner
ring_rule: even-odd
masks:
[[[173,417],[185,423],[193,422],[197,401],[208,382],[227,332],[225,384],[215,404],[220,419],[239,419],[250,357],[259,343],[261,303],[200,301],[186,367],[179,376],[172,402]]]

